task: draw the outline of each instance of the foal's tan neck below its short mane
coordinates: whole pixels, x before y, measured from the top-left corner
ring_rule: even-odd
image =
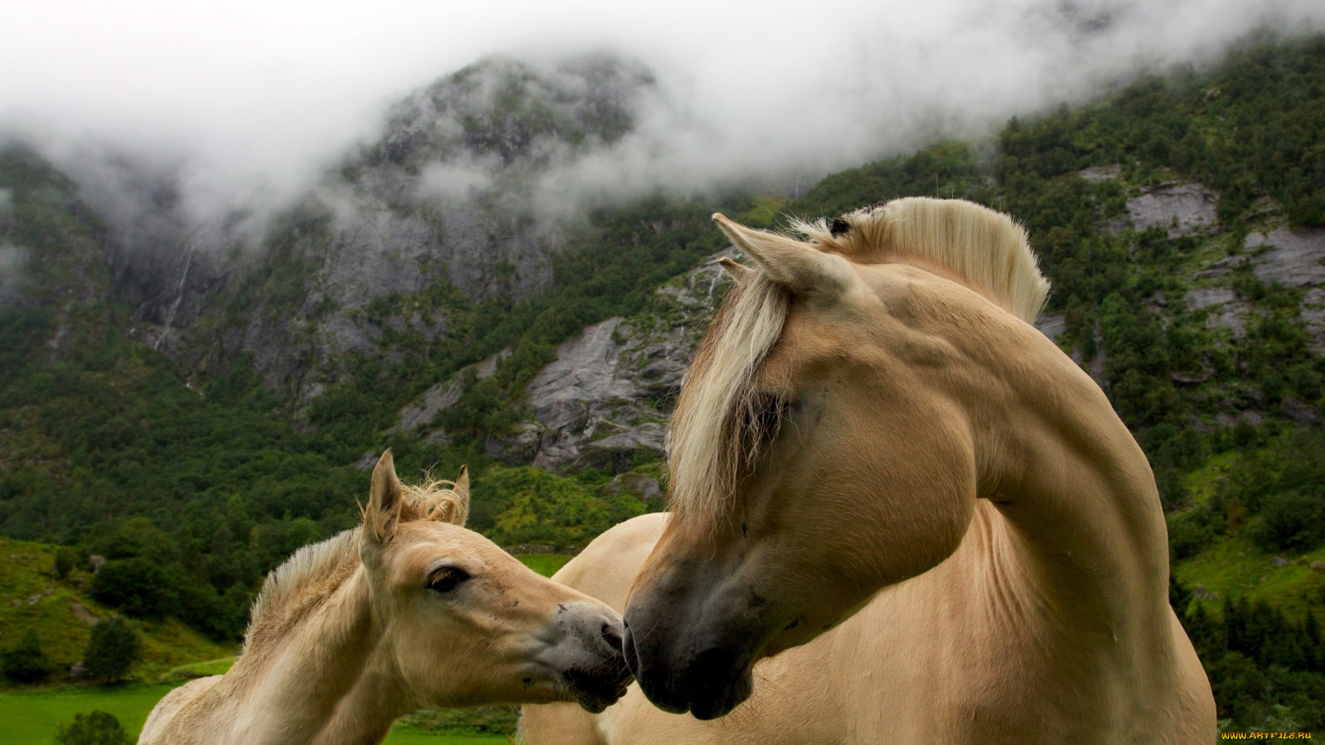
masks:
[[[233,730],[244,742],[313,742],[378,647],[380,630],[363,567],[302,615],[278,638],[246,650],[246,659],[236,664]]]

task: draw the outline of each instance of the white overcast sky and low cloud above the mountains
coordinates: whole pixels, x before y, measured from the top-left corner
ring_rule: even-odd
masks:
[[[636,176],[812,176],[1322,20],[1320,0],[7,0],[0,130],[167,154],[197,188],[290,190],[484,54],[606,49],[649,65],[685,123],[652,133]]]

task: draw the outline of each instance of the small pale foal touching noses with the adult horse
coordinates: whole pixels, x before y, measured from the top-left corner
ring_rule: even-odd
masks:
[[[139,744],[370,744],[420,707],[615,701],[616,611],[465,530],[468,513],[464,469],[405,487],[383,453],[363,525],[268,575],[235,667],[170,692]]]

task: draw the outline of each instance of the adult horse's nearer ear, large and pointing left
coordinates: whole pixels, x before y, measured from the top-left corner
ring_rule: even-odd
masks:
[[[856,274],[851,264],[835,253],[824,253],[799,240],[755,231],[726,216],[714,213],[713,221],[722,228],[737,248],[750,255],[770,280],[786,285],[795,293],[810,296],[837,296],[847,290]],[[734,262],[733,262],[734,264]],[[726,266],[723,264],[723,266]]]

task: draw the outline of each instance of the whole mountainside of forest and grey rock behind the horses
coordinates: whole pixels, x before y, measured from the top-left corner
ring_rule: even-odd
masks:
[[[388,445],[403,472],[468,463],[470,524],[504,545],[583,545],[661,506],[672,398],[726,289],[710,212],[959,196],[1026,224],[1055,288],[1037,326],[1150,457],[1222,716],[1325,722],[1325,40],[1252,37],[790,203],[567,195],[655,94],[616,60],[488,60],[289,208],[205,225],[168,179],[5,148],[0,532],[150,553],[152,607],[217,638],[266,569],[354,524]]]

